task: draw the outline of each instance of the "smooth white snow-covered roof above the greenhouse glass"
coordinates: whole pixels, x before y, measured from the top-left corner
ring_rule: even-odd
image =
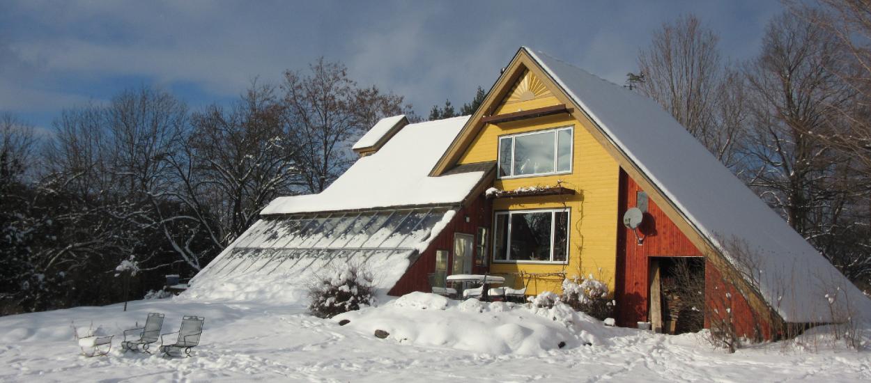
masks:
[[[275,198],[260,214],[456,205],[481,181],[485,171],[441,177],[429,177],[429,171],[468,119],[408,124],[375,154],[358,159],[323,192]]]

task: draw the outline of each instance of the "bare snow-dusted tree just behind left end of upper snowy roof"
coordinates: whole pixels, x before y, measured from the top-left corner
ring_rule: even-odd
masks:
[[[272,86],[252,86],[228,110],[218,105],[193,115],[185,153],[172,158],[177,196],[194,212],[218,248],[257,219],[260,210],[301,184],[300,146]]]

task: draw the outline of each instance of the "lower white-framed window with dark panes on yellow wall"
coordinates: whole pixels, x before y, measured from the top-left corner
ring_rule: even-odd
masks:
[[[568,263],[569,209],[496,212],[493,262]]]

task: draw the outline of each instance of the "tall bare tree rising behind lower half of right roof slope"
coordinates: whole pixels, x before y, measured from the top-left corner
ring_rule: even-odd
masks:
[[[837,74],[848,70],[848,61],[836,37],[807,22],[816,17],[818,11],[810,9],[775,17],[760,56],[745,67],[752,97],[746,143],[752,171],[745,176],[789,225],[844,270],[857,265],[856,253],[847,261],[838,258],[845,254],[845,239],[867,230],[857,225],[867,222],[861,206],[868,193],[856,160],[828,138],[848,129],[841,111],[851,108],[857,93]]]

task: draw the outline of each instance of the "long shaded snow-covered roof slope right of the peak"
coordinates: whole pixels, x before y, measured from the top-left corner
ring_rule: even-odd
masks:
[[[729,253],[735,247],[729,241],[735,239],[754,254],[752,272],[760,292],[781,318],[831,321],[827,297],[835,295],[841,304],[849,299],[853,310],[866,318],[871,314],[871,302],[841,272],[659,104],[542,52],[523,49],[727,259],[739,263],[739,255]],[[841,320],[846,314],[834,316]]]

